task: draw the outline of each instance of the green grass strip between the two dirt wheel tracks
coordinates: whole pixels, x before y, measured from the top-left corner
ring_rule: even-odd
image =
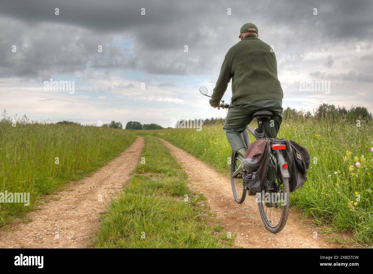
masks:
[[[233,243],[210,223],[203,195],[188,189],[187,176],[170,152],[145,136],[145,163],[103,218],[98,248],[222,248]],[[188,195],[188,199],[186,199]],[[201,205],[204,205],[202,207]],[[220,232],[220,233],[218,233]]]

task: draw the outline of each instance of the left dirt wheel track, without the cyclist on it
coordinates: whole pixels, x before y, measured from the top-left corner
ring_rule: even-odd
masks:
[[[54,195],[26,218],[31,221],[10,224],[0,230],[0,248],[84,248],[91,244],[107,202],[137,166],[144,138],[136,141],[109,164]],[[101,199],[102,198],[102,199]],[[54,200],[54,201],[53,201]],[[58,234],[56,234],[56,232]]]

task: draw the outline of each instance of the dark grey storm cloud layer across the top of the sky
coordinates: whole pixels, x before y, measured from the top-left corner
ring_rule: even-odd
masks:
[[[260,38],[275,45],[279,59],[291,59],[325,51],[344,43],[346,36],[371,42],[372,7],[372,1],[2,1],[1,76],[74,72],[87,66],[209,73],[239,41],[238,29],[247,21],[255,22]],[[132,40],[133,56],[118,45],[107,46],[118,35]],[[13,44],[21,53],[16,61],[5,50]],[[101,44],[106,46],[104,58],[95,54]],[[328,59],[326,64],[332,63]]]

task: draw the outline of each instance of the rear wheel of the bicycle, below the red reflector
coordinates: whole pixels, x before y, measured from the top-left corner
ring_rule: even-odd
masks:
[[[273,157],[276,157],[273,155]],[[277,159],[276,162],[278,163]],[[272,168],[267,173],[263,192],[258,193],[257,202],[260,217],[264,226],[272,233],[280,232],[286,224],[289,215],[289,178],[282,178],[278,172],[279,166],[273,162],[272,158],[268,168]]]

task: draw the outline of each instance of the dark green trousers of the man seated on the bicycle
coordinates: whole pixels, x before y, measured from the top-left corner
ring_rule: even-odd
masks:
[[[273,118],[262,120],[262,128],[266,138],[276,138],[282,122],[282,101],[278,99],[256,100],[242,104],[231,103],[228,108],[228,114],[225,118],[223,129],[228,142],[233,151],[246,148],[248,141],[248,132],[246,126],[253,120],[251,115],[257,110],[270,110],[273,112]]]

